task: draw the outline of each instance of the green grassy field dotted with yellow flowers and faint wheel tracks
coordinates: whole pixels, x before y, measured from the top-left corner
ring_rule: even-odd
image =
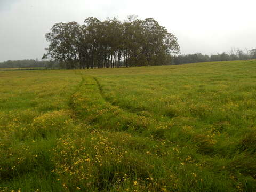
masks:
[[[256,61],[0,72],[0,191],[256,191]]]

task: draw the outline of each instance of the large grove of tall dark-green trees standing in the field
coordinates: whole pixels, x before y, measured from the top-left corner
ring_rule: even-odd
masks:
[[[50,45],[43,59],[66,69],[169,65],[180,49],[177,38],[153,18],[135,16],[123,22],[89,17],[83,25],[56,23],[45,38]]]

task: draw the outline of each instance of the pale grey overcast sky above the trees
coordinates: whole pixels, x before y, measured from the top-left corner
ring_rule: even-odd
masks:
[[[54,23],[87,17],[153,17],[178,38],[181,54],[256,48],[255,0],[0,0],[0,62],[41,59]]]

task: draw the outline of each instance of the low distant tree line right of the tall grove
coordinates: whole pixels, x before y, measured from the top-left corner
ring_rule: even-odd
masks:
[[[196,63],[207,61],[234,61],[234,60],[247,60],[256,59],[256,49],[234,49],[232,48],[228,53],[223,52],[221,54],[206,55],[201,53],[177,55],[173,58],[174,64],[183,63]]]

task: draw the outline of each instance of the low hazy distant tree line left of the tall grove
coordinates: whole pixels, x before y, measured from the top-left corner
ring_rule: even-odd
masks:
[[[0,68],[63,68],[58,61],[47,61],[38,59],[24,59],[24,60],[7,60],[0,63]]]

